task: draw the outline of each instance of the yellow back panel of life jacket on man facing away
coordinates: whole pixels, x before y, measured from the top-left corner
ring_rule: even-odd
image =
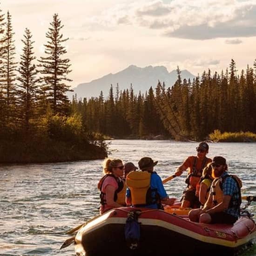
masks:
[[[147,171],[131,171],[126,176],[126,185],[131,191],[132,205],[147,204],[151,174]]]

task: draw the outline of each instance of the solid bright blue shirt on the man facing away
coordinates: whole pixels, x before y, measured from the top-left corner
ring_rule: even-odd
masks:
[[[156,193],[158,195],[160,195],[161,199],[168,196],[166,191],[165,191],[165,189],[164,189],[164,187],[163,187],[162,180],[161,180],[160,176],[156,172],[153,172],[151,174],[150,188],[152,189],[152,192],[151,192],[152,198],[155,198]],[[128,197],[128,198],[131,197],[131,191],[130,191],[129,188],[127,188],[127,190],[126,190],[126,197]],[[157,206],[156,203],[155,204],[145,205],[145,207],[152,208],[152,209],[158,209],[158,206]]]

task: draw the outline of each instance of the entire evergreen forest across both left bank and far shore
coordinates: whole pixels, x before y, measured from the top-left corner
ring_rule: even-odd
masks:
[[[70,101],[71,70],[58,14],[36,57],[31,31],[15,56],[12,17],[0,10],[0,162],[60,162],[107,156],[106,138],[201,141],[223,132],[256,133],[256,61],[238,74],[232,59],[221,74],[164,81],[134,94],[109,85],[109,94]],[[151,87],[150,87],[151,86]]]

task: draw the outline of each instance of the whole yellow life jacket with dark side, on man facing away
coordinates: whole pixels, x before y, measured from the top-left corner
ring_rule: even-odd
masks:
[[[156,189],[150,188],[151,174],[147,171],[131,171],[126,176],[126,185],[131,191],[131,203],[133,206],[160,204],[160,196]],[[155,198],[152,197],[153,191],[155,191]]]

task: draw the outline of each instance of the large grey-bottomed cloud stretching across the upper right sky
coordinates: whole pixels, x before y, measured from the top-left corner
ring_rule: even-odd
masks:
[[[164,36],[193,40],[251,37],[256,36],[256,1],[128,1],[105,10],[94,22],[101,28],[147,27]]]

